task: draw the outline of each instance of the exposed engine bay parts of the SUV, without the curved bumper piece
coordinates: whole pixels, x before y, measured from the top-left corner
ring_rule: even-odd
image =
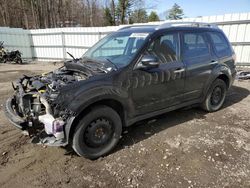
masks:
[[[63,125],[72,113],[61,109],[54,100],[61,88],[86,78],[82,72],[68,70],[66,67],[39,76],[23,76],[16,86],[13,85],[16,91],[13,98],[13,104],[16,105],[14,109],[28,122],[28,130],[32,130],[30,127],[34,130],[39,126],[44,127],[48,135],[54,135],[56,140],[63,139]]]

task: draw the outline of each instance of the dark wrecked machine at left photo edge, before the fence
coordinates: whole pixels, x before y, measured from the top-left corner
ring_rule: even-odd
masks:
[[[15,62],[18,64],[22,63],[21,52],[18,50],[10,51],[4,49],[3,42],[0,42],[0,62]]]

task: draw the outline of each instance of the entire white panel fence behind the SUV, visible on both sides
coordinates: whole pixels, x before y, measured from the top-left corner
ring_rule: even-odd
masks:
[[[250,66],[250,13],[225,14],[182,21],[216,23],[225,32],[236,52],[237,63]],[[147,24],[161,24],[152,22]],[[67,51],[80,57],[90,46],[110,32],[123,26],[76,27],[22,30],[0,28],[0,41],[8,48],[19,49],[24,58],[59,60],[70,58]]]

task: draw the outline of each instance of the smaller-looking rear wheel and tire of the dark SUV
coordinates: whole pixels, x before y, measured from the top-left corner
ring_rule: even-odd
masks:
[[[219,110],[225,101],[227,92],[226,83],[221,79],[216,79],[210,86],[205,100],[202,102],[202,108],[207,112]]]

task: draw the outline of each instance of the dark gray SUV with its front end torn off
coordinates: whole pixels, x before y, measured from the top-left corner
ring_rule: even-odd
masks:
[[[215,25],[132,25],[57,70],[20,78],[5,111],[41,143],[96,159],[137,121],[193,104],[219,110],[235,74],[234,51]]]

